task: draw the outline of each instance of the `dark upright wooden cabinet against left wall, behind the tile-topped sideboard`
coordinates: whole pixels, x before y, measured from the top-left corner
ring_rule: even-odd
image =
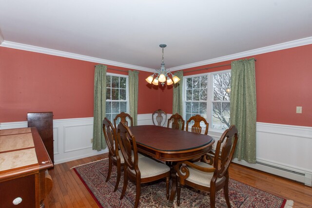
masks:
[[[53,149],[53,113],[36,112],[27,113],[28,127],[36,127],[47,150],[52,163],[54,164]]]

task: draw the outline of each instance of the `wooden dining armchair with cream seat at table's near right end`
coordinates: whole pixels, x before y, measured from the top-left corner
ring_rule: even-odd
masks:
[[[188,185],[195,189],[210,192],[211,208],[215,208],[215,193],[223,188],[226,204],[229,208],[231,207],[229,199],[229,166],[236,148],[237,134],[234,125],[223,132],[216,145],[213,165],[200,161],[195,163],[183,161],[176,164],[177,206],[180,205],[181,185]],[[221,147],[222,151],[220,151]]]

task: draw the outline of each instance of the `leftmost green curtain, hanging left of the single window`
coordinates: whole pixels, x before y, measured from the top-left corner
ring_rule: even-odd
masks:
[[[106,111],[106,69],[107,66],[96,65],[94,73],[94,110],[93,110],[93,150],[101,151],[106,148],[102,129],[102,121]]]

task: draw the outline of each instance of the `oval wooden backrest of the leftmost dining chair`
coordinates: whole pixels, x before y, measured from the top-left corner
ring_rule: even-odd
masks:
[[[109,153],[117,157],[118,156],[118,140],[116,129],[113,127],[112,122],[110,122],[106,117],[103,120],[103,133],[106,140]]]

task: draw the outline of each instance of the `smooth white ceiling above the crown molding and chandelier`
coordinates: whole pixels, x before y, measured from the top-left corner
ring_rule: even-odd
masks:
[[[312,0],[0,0],[2,46],[149,69],[161,43],[172,68],[309,37]]]

